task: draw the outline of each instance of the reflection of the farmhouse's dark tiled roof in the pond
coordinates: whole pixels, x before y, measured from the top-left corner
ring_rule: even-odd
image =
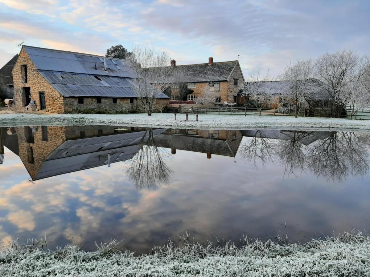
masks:
[[[158,147],[235,157],[226,140],[193,137],[177,134],[159,134],[155,137]]]

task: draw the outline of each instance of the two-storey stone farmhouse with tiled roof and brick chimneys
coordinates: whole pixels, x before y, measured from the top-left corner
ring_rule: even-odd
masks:
[[[209,90],[214,93],[215,103],[235,102],[245,81],[239,61],[213,62],[213,58],[210,57],[205,64],[176,65],[176,61],[172,60],[171,67],[168,69],[170,69],[168,78],[181,71],[184,75],[181,83],[184,83],[188,89],[185,99],[181,99],[183,96],[179,95],[178,90],[174,88],[179,86],[179,82],[173,83],[172,93],[168,93],[171,95],[171,100],[196,100],[204,94],[205,90]],[[150,72],[151,68],[144,70]]]

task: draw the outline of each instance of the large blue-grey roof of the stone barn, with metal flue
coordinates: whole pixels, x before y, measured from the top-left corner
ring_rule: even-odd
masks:
[[[123,59],[27,45],[23,48],[38,72],[64,97],[137,97],[132,83],[137,76]],[[168,98],[159,91],[157,97]]]

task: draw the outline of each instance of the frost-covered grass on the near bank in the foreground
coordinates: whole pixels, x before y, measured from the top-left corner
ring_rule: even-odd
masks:
[[[42,251],[12,246],[0,251],[0,276],[369,276],[370,237],[346,233],[300,244],[245,239],[191,243],[169,241],[151,254],[117,252],[116,242],[96,252],[77,246]]]

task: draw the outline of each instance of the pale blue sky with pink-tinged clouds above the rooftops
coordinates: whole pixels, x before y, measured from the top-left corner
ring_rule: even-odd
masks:
[[[25,45],[104,55],[149,43],[176,64],[238,59],[244,75],[289,59],[369,54],[369,0],[0,0],[0,66]]]

